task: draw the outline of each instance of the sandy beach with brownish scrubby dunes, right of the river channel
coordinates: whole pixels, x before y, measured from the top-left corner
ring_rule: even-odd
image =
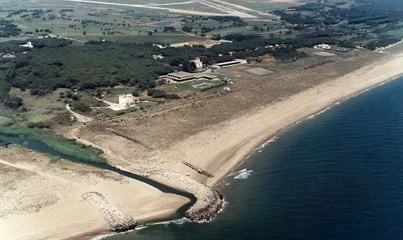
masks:
[[[304,71],[273,79],[271,83],[262,82],[269,85],[255,86],[272,89],[280,85],[281,89],[281,83],[284,83],[286,89],[283,88],[279,97],[271,97],[273,90],[267,95],[238,90],[230,95],[194,103],[191,108],[163,112],[148,118],[124,116],[119,120],[105,121],[102,125],[92,124],[80,128],[76,136],[80,137],[79,140],[88,140],[88,143],[102,148],[110,164],[129,172],[146,174],[163,184],[192,193],[198,198],[195,204],[197,211],[208,211],[209,206],[216,205],[214,191],[206,191],[197,182],[214,188],[255,148],[281,130],[326,109],[334,102],[401,75],[403,56],[400,54],[400,45],[381,53],[358,50],[344,59],[332,61],[334,64],[305,68]],[[338,69],[340,67],[343,68]],[[279,80],[282,82],[279,83]],[[293,86],[300,82],[303,84],[299,84],[298,88],[303,90],[294,90]],[[234,107],[224,107],[228,102],[232,104],[238,100],[243,102],[233,104]],[[257,104],[259,101],[266,103]],[[243,104],[249,108],[240,112]],[[105,128],[135,136],[144,143],[156,146],[158,150],[148,150],[105,132]],[[65,136],[71,137],[70,132],[66,132]],[[182,161],[213,172],[214,178],[199,174]],[[170,174],[156,174],[161,172]],[[211,212],[207,215],[211,216]]]

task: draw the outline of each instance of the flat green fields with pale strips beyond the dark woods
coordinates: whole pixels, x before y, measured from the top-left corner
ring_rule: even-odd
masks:
[[[150,4],[142,0],[113,2],[103,0],[100,4],[86,3],[86,0],[17,2],[20,3],[18,9],[34,9],[35,12],[15,11],[16,2],[6,1],[1,8],[3,11],[0,12],[0,19],[4,18],[18,24],[23,36],[14,38],[19,40],[51,33],[76,42],[102,39],[113,42],[170,44],[199,40],[206,35],[212,37],[259,33],[267,37],[273,35],[284,37],[282,35],[290,28],[290,25],[279,20],[278,16],[264,13],[266,10],[262,11],[259,1],[158,0],[153,1],[155,6],[152,8],[148,8]],[[269,12],[276,9],[271,7],[276,4],[281,3],[267,1],[263,5],[269,6],[270,9],[267,10]],[[303,4],[303,1],[291,6],[300,4]],[[232,16],[233,19],[211,18],[217,14]],[[164,28],[167,27],[173,27],[174,30],[166,31]]]

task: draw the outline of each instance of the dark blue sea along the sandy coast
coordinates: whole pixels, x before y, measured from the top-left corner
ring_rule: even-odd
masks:
[[[213,221],[107,239],[403,239],[403,78],[277,137],[221,183]]]

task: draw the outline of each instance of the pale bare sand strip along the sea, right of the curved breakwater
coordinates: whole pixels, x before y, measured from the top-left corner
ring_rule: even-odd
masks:
[[[336,102],[395,80],[403,75],[402,66],[402,54],[380,59],[344,76],[287,97],[285,100],[261,107],[249,116],[241,116],[239,119],[218,124],[211,130],[198,133],[196,136],[190,136],[174,148],[185,149],[185,155],[192,159],[192,163],[214,172],[214,179],[192,173],[195,179],[214,187],[235,167],[239,167],[248,156],[253,155],[255,150],[275,138],[284,129],[328,109]],[[212,137],[209,138],[209,135],[214,136],[214,140]],[[203,150],[194,150],[197,139],[207,139],[206,142],[209,143],[197,146]],[[190,148],[191,145],[192,148]],[[218,151],[206,151],[211,148]],[[187,171],[183,167],[182,170]]]

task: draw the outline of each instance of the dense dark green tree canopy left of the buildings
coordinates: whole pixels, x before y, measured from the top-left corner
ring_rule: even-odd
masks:
[[[0,44],[0,49],[16,49],[21,42]],[[13,87],[30,88],[33,95],[45,95],[56,88],[98,88],[126,83],[153,87],[154,80],[172,71],[153,59],[151,45],[98,44],[71,45],[66,40],[33,41],[34,49],[0,60],[0,76]],[[25,49],[28,50],[28,49]]]

